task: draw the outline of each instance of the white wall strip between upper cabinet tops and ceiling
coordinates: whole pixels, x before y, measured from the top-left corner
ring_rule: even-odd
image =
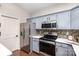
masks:
[[[59,12],[59,11],[63,11],[63,10],[68,10],[68,9],[71,9],[71,8],[77,6],[77,5],[79,5],[79,4],[77,4],[77,3],[56,4],[56,5],[50,6],[45,9],[41,9],[39,12],[32,14],[31,17],[36,17],[36,16],[51,14],[51,13],[55,13],[55,12]]]

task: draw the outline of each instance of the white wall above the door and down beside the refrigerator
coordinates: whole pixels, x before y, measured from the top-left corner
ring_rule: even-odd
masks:
[[[19,35],[18,42],[16,42],[16,40],[14,40],[13,42],[14,42],[14,45],[17,44],[17,47],[15,46],[15,49],[19,49],[20,48],[20,28],[18,28],[18,26],[20,26],[20,23],[26,22],[26,18],[29,17],[28,12],[15,4],[8,4],[8,3],[3,4],[2,3],[0,6],[0,14],[5,14],[8,16],[18,18],[19,24],[16,25],[18,29],[17,35]]]

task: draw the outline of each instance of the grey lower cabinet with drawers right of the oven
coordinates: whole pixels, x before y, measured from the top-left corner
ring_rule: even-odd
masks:
[[[55,51],[56,56],[75,56],[73,47],[69,44],[57,42]]]

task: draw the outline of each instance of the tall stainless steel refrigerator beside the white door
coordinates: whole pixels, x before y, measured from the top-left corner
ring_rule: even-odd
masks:
[[[20,24],[20,49],[30,52],[30,20]]]

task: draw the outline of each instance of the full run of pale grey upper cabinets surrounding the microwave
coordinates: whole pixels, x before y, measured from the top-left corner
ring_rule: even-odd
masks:
[[[36,24],[36,29],[41,29],[42,23],[53,21],[57,22],[57,29],[79,29],[79,7],[73,8],[70,11],[37,17],[33,22]]]

